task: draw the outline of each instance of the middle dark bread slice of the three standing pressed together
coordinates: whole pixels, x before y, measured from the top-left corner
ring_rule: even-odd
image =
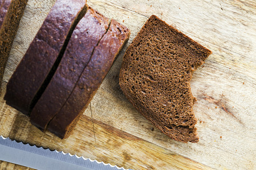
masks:
[[[77,24],[60,65],[30,114],[31,123],[40,130],[46,130],[48,122],[68,99],[108,26],[108,18],[90,7]]]

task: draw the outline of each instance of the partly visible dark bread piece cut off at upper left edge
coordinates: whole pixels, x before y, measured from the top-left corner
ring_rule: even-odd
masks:
[[[0,0],[0,94],[3,73],[27,0]]]

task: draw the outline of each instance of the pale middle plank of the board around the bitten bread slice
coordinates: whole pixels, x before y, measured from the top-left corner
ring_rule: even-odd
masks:
[[[118,15],[119,22],[125,20],[127,27],[131,28],[132,38],[129,42],[147,19],[113,3],[94,1],[92,6],[104,11],[108,17]],[[134,23],[137,23],[135,27]],[[233,27],[237,28],[236,25]],[[115,62],[92,101],[93,117],[214,168],[253,168],[255,155],[251,151],[255,152],[255,135],[251,134],[255,134],[253,110],[256,109],[256,66],[251,61],[254,56],[249,53],[241,55],[221,48],[218,44],[198,40],[213,51],[204,66],[194,73],[191,82],[193,95],[198,100],[194,110],[201,121],[197,124],[201,137],[199,145],[168,139],[131,107],[118,84],[121,57]],[[151,131],[152,128],[154,131]],[[246,145],[241,145],[245,142]]]

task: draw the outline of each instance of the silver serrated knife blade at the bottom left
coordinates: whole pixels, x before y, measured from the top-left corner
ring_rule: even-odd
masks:
[[[0,136],[0,160],[35,169],[124,169],[82,156],[51,151]]]

